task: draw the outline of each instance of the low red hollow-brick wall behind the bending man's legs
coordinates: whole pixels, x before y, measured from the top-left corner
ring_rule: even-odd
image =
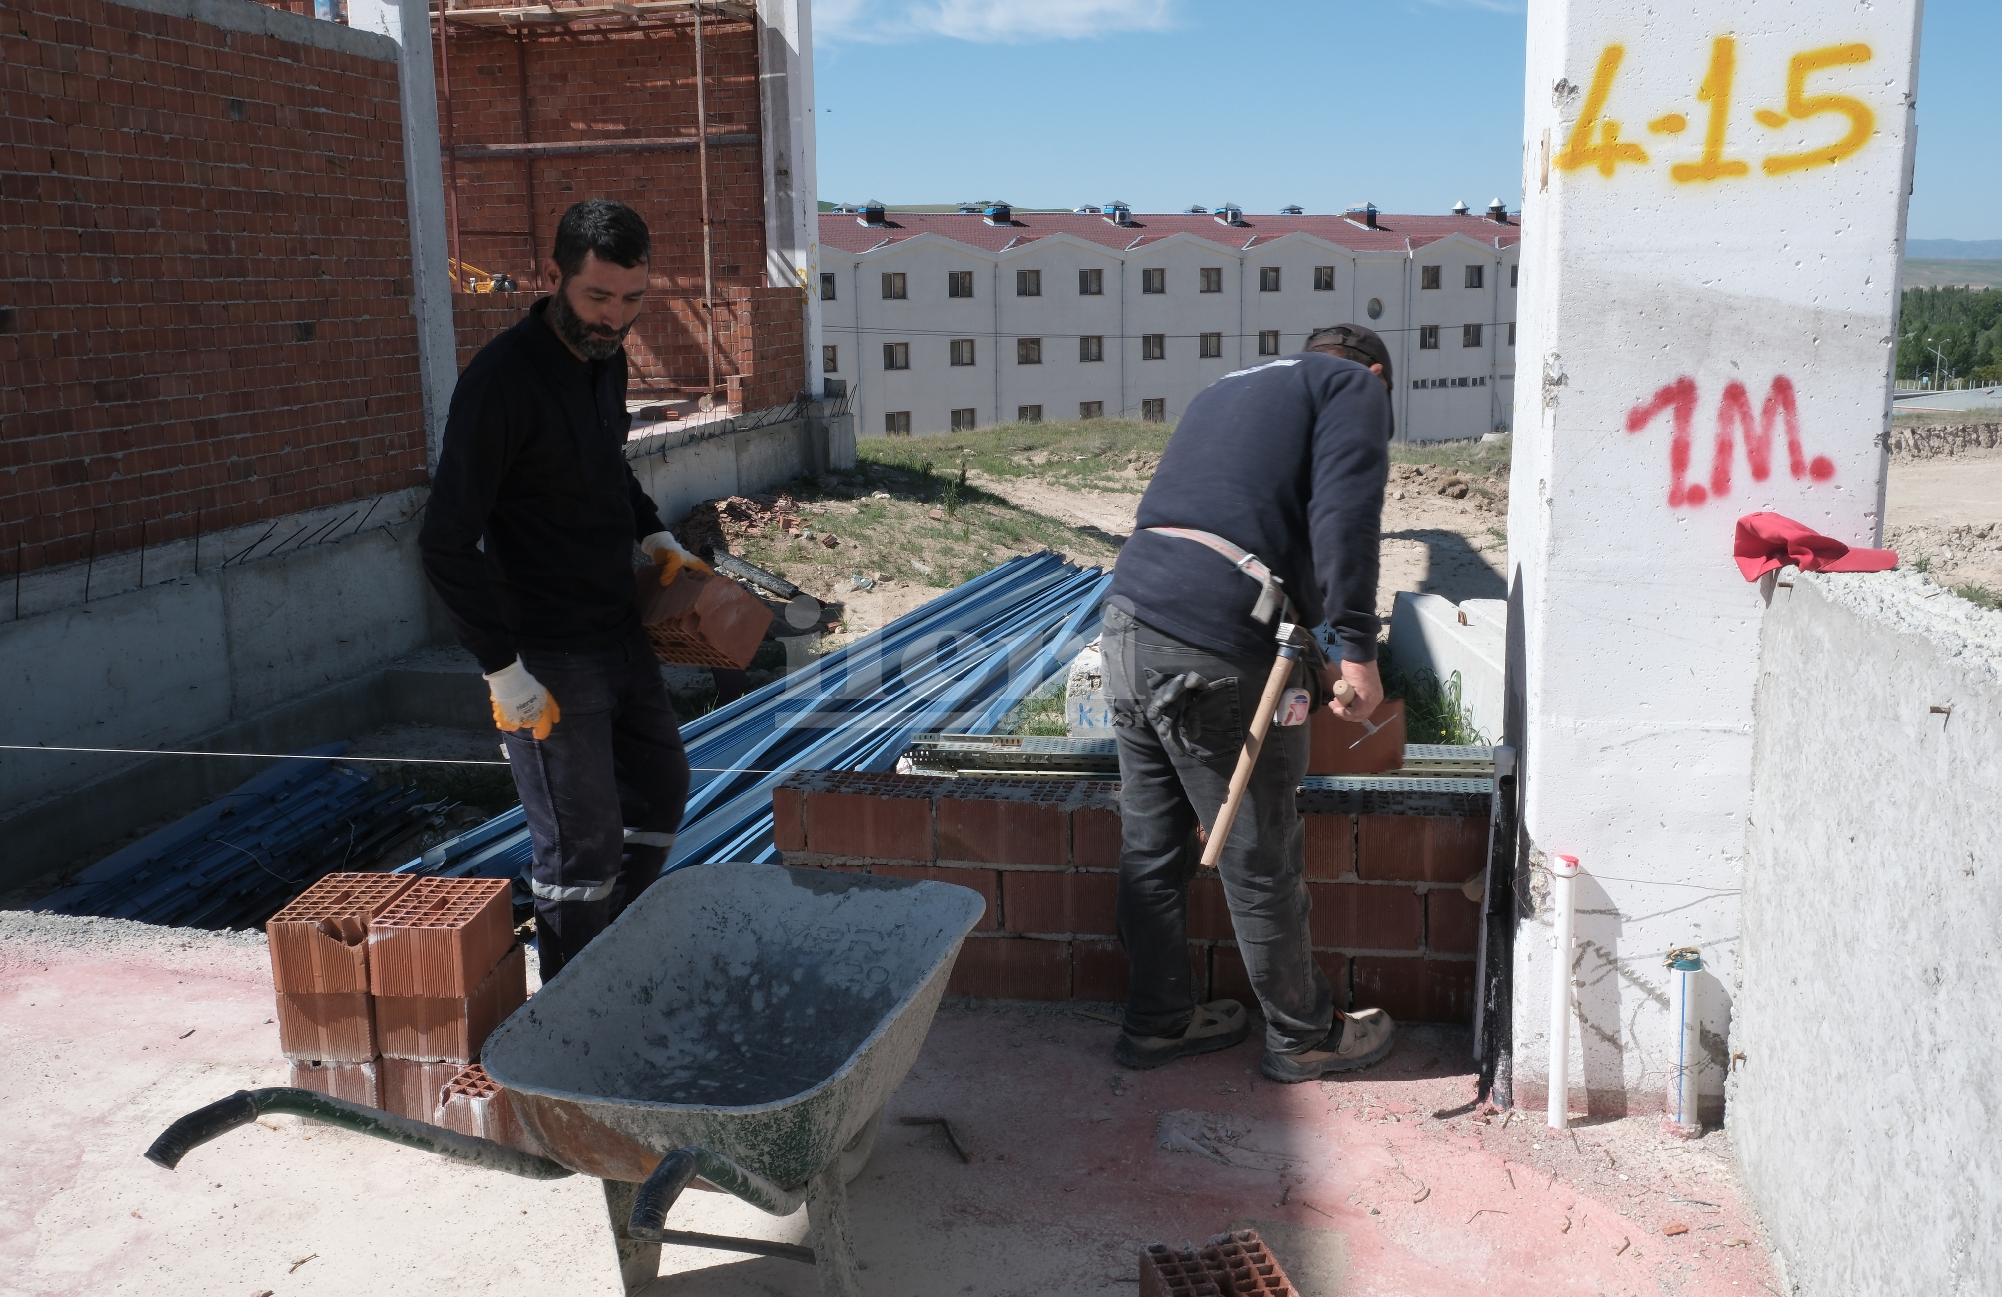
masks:
[[[1335,1005],[1469,1023],[1477,909],[1461,885],[1487,857],[1487,795],[1303,789],[1299,809],[1309,931]],[[773,839],[787,865],[981,893],[951,995],[1127,995],[1115,781],[799,773],[773,791]],[[1189,885],[1189,967],[1197,999],[1255,1003],[1213,871]]]

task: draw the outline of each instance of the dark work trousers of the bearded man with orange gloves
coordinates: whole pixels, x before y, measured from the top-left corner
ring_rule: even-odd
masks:
[[[541,743],[505,735],[535,843],[535,949],[551,981],[661,877],[689,805],[689,755],[639,630],[611,648],[525,648],[521,663],[563,713]]]

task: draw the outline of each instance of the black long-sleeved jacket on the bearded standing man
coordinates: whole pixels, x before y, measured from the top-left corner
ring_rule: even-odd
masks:
[[[637,626],[633,542],[663,530],[625,456],[625,352],[579,360],[545,310],[458,376],[416,540],[486,673],[519,648],[603,648]]]

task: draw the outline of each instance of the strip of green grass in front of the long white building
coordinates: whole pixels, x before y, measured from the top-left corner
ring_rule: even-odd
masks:
[[[857,446],[879,468],[959,476],[961,466],[987,476],[1033,476],[1091,490],[1147,488],[1173,424],[1131,418],[1007,422],[943,436],[885,436]]]

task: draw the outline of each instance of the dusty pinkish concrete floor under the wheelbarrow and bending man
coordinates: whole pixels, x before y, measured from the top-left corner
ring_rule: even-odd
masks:
[[[1407,1029],[1383,1065],[1317,1085],[1267,1083],[1251,1043],[1127,1073],[1093,1013],[941,1009],[851,1191],[871,1297],[1133,1293],[1141,1245],[1239,1225],[1315,1297],[1784,1291],[1724,1135],[1682,1143],[1648,1119],[1560,1135],[1473,1111],[1449,1029]],[[0,915],[0,1295],[619,1291],[587,1179],[519,1181],[296,1119],[178,1173],[144,1163],[174,1117],[284,1083],[270,1017],[260,935]],[[905,1117],[949,1119],[973,1163]],[[1201,1151],[1159,1147],[1163,1129]],[[685,1195],[673,1225],[805,1239],[805,1213],[713,1193]],[[647,1291],[817,1285],[787,1261],[667,1249]]]

